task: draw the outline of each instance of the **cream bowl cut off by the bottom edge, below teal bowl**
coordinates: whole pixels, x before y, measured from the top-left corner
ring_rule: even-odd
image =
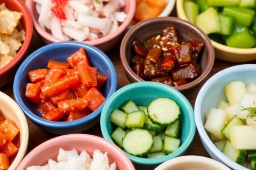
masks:
[[[203,156],[180,156],[160,164],[154,170],[231,170],[224,164]]]

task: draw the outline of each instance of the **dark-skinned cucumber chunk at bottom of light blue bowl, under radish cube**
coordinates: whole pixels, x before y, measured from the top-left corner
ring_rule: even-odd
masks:
[[[223,147],[222,153],[238,164],[242,164],[244,157],[246,156],[246,152],[244,150],[234,149],[231,142],[228,140]]]

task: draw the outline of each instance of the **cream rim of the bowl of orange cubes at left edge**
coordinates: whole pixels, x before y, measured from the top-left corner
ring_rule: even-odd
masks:
[[[20,133],[20,139],[22,139],[22,142],[20,142],[18,153],[9,167],[9,170],[15,170],[17,166],[20,164],[20,161],[22,161],[23,157],[26,155],[29,142],[28,122],[26,121],[26,117],[23,111],[20,109],[19,105],[17,105],[17,103],[10,96],[0,91],[0,98],[3,99],[5,103],[9,103],[8,105],[12,105],[12,107],[17,111],[14,112],[14,114],[20,122],[20,132],[22,132]]]

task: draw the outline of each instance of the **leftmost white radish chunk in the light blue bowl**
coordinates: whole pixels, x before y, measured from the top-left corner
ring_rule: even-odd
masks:
[[[212,108],[208,119],[204,125],[204,128],[209,132],[216,136],[218,139],[223,139],[224,135],[221,130],[225,126],[227,122],[227,113],[222,109]]]

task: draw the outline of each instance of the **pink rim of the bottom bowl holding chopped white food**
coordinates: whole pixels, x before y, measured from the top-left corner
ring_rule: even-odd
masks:
[[[74,133],[74,134],[69,134],[69,135],[58,136],[58,137],[49,139],[46,142],[39,144],[37,147],[35,147],[33,150],[31,150],[25,156],[25,158],[20,162],[20,165],[17,167],[17,170],[21,170],[21,168],[26,168],[24,166],[26,164],[28,164],[30,159],[33,156],[37,156],[38,153],[41,152],[41,150],[45,150],[45,148],[47,146],[56,145],[56,143],[59,143],[60,141],[67,141],[67,140],[74,141],[76,139],[84,139],[85,141],[99,142],[102,145],[105,145],[106,147],[111,148],[112,150],[115,151],[116,155],[118,153],[118,156],[122,157],[122,160],[125,162],[125,164],[131,168],[129,170],[135,170],[134,165],[131,163],[130,159],[128,159],[128,157],[125,155],[125,153],[123,153],[123,151],[119,147],[117,147],[115,144],[112,144],[111,142],[108,142],[107,140],[105,140],[99,136],[94,136],[94,135],[89,135],[89,134],[81,134],[81,133]]]

